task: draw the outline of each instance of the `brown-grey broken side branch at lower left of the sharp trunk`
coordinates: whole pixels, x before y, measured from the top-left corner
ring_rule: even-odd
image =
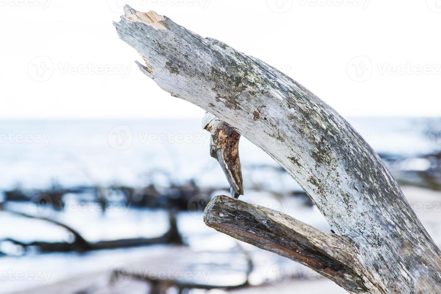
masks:
[[[233,238],[304,264],[351,292],[367,293],[372,287],[360,270],[357,249],[347,237],[227,196],[210,201],[204,221]]]

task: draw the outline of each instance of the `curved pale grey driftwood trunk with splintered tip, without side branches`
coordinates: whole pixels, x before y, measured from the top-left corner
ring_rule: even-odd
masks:
[[[370,293],[441,293],[440,250],[346,120],[265,62],[165,16],[159,22],[167,29],[126,16],[114,24],[158,86],[216,115],[292,175],[333,231],[357,248]]]

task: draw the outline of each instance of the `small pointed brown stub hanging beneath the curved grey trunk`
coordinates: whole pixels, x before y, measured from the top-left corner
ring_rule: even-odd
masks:
[[[206,113],[202,128],[211,134],[210,155],[216,158],[235,198],[243,195],[242,169],[239,160],[240,134],[211,113]]]

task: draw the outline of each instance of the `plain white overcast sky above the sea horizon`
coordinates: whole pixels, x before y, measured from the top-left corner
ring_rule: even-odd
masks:
[[[0,118],[200,118],[112,21],[155,10],[279,68],[343,116],[441,115],[440,0],[0,0]]]

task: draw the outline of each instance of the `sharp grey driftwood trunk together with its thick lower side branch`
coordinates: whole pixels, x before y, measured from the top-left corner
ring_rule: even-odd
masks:
[[[265,62],[154,11],[126,6],[114,25],[145,60],[144,74],[272,156],[335,234],[223,196],[207,207],[207,225],[351,293],[441,293],[440,250],[381,159],[333,108]]]

